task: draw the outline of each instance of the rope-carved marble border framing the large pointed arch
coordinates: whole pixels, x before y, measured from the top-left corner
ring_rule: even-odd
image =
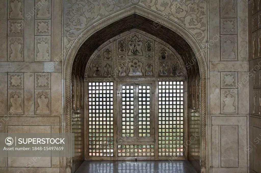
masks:
[[[99,21],[96,25],[91,25],[90,27],[86,28],[83,32],[81,32],[77,38],[74,40],[72,46],[69,48],[69,51],[65,57],[63,63],[63,79],[64,79],[64,132],[71,133],[72,132],[72,122],[71,122],[71,72],[72,72],[72,65],[75,58],[75,55],[81,45],[84,43],[89,36],[95,33],[97,30],[106,27],[107,25],[120,20],[121,18],[127,17],[132,14],[138,14],[143,17],[146,17],[155,23],[160,23],[161,25],[169,28],[170,30],[174,31],[175,33],[179,34],[183,39],[185,39],[188,44],[191,46],[194,54],[196,55],[195,58],[198,61],[199,70],[200,70],[200,169],[201,173],[206,173],[208,167],[206,162],[206,118],[207,118],[207,102],[206,102],[206,93],[207,93],[207,61],[206,57],[203,53],[200,44],[198,43],[195,36],[191,34],[185,27],[181,26],[179,23],[172,21],[170,19],[166,19],[164,16],[159,15],[155,12],[150,10],[146,10],[144,8],[138,7],[134,5],[129,9],[123,9],[116,13],[113,13],[106,17],[104,20]],[[65,161],[65,162],[64,162]],[[65,167],[62,169],[63,172],[71,173],[72,170],[72,158],[66,157],[66,160],[63,161]]]

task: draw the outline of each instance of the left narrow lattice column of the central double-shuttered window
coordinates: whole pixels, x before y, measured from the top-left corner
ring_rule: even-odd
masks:
[[[134,86],[121,85],[122,137],[134,137]]]

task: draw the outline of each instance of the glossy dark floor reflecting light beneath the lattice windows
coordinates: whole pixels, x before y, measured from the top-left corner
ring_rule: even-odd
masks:
[[[76,173],[197,173],[187,160],[84,161]]]

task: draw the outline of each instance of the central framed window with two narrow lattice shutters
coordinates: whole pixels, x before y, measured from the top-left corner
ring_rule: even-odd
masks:
[[[154,82],[118,83],[118,142],[155,141],[154,85]]]

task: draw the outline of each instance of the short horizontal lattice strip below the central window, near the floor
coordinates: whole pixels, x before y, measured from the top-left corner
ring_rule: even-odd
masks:
[[[118,145],[119,157],[154,156],[154,145]]]

